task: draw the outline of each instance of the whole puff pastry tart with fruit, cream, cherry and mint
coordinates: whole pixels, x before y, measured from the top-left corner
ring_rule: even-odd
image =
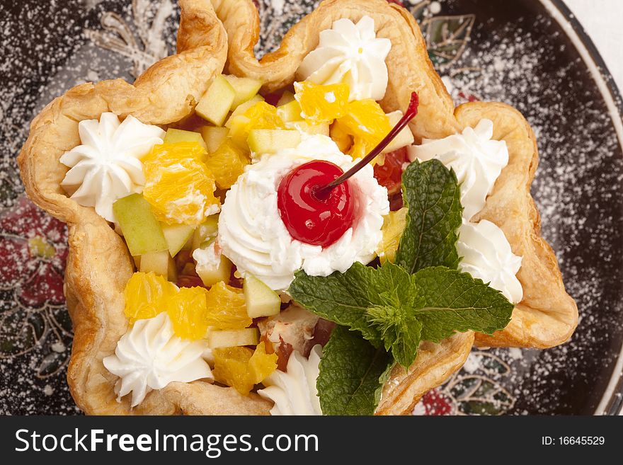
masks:
[[[18,159],[69,226],[83,411],[409,413],[474,343],[571,336],[530,126],[454,108],[408,11],[326,0],[258,61],[251,0],[180,5],[177,54],[52,101]]]

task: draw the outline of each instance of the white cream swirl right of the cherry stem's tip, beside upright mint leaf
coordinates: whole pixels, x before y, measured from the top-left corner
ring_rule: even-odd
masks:
[[[506,142],[491,137],[493,122],[481,120],[473,129],[466,127],[462,134],[424,139],[421,145],[408,148],[411,161],[439,159],[455,171],[461,185],[463,217],[468,221],[483,209],[487,195],[508,164]]]

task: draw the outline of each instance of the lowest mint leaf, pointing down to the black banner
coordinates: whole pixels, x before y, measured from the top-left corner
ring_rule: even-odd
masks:
[[[322,413],[373,415],[377,391],[382,389],[382,376],[390,361],[382,348],[375,348],[344,326],[336,326],[324,347],[316,381]]]

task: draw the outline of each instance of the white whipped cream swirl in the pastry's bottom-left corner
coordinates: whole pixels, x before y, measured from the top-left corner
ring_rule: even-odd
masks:
[[[173,333],[173,323],[163,311],[154,318],[138,320],[117,343],[114,355],[103,359],[104,367],[120,380],[115,384],[117,400],[132,393],[132,407],[152,389],[173,381],[214,379],[203,360],[205,340],[187,340]]]

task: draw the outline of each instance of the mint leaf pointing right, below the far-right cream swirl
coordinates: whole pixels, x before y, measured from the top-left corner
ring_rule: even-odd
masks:
[[[455,331],[491,334],[505,328],[513,314],[514,305],[501,292],[469,273],[435,267],[413,278],[421,292],[415,316],[422,340],[438,343]]]

